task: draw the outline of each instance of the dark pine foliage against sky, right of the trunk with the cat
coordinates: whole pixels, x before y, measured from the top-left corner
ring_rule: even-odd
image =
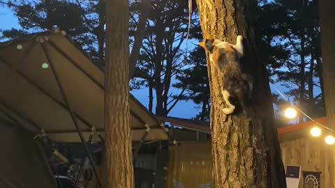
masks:
[[[286,94],[309,116],[323,116],[316,1],[278,0],[262,4],[256,23],[258,37],[266,47],[262,58],[269,63],[273,81],[286,86],[289,90]],[[320,93],[315,95],[315,91]]]

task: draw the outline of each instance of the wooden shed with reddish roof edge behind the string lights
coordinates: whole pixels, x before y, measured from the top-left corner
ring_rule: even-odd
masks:
[[[326,118],[316,121],[322,125],[327,123]],[[304,187],[306,179],[310,183],[318,181],[318,187],[332,188],[335,187],[335,146],[325,143],[325,130],[320,137],[311,136],[313,126],[315,123],[308,121],[278,129],[283,164],[301,166],[299,188]]]

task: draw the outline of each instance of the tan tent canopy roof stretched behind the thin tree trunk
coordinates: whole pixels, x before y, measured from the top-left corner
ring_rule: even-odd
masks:
[[[84,138],[92,127],[104,136],[105,73],[64,33],[36,33],[0,44],[0,117],[36,134],[43,129],[53,141],[80,141],[50,63]],[[146,140],[168,139],[160,122],[132,95],[129,104],[133,141],[140,141],[146,124],[151,128]]]

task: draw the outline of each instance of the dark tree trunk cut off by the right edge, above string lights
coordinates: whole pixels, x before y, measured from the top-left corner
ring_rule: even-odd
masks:
[[[325,107],[327,126],[335,128],[335,1],[319,1],[320,27],[321,27],[321,55],[322,75],[325,93]]]

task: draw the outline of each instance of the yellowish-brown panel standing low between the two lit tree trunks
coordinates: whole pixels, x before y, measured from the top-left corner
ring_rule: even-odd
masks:
[[[169,147],[167,187],[211,187],[212,171],[210,142],[184,141]]]

